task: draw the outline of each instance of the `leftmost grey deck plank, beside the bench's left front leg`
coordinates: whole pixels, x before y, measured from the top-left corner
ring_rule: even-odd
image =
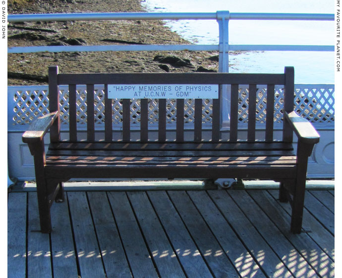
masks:
[[[7,201],[7,277],[25,277],[27,193],[11,193]]]

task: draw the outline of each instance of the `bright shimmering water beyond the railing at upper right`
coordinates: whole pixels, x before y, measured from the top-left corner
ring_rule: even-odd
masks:
[[[334,0],[146,0],[153,12],[334,13]],[[167,20],[167,26],[195,44],[218,44],[216,20]],[[229,44],[334,45],[334,21],[230,20]],[[297,84],[334,84],[334,52],[243,52],[229,55],[229,72],[282,73],[295,69]]]

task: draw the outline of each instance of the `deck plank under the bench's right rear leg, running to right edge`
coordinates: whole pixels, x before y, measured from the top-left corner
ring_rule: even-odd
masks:
[[[278,190],[268,190],[270,194],[277,200]],[[289,203],[279,203],[283,209],[290,215],[291,206]],[[310,231],[307,234],[324,250],[324,252],[335,261],[335,238],[334,236],[304,208],[303,224],[304,230]]]

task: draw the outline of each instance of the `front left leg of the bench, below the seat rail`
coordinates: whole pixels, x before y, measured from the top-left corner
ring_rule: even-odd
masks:
[[[39,182],[37,180],[37,197],[38,197],[38,209],[40,227],[42,233],[50,233],[52,231],[51,226],[51,214],[50,214],[50,202],[47,193],[46,182]]]

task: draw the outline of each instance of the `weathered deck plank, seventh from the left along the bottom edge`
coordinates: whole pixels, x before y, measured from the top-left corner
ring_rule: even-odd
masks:
[[[184,272],[145,192],[128,192],[141,230],[161,277],[184,277]]]

